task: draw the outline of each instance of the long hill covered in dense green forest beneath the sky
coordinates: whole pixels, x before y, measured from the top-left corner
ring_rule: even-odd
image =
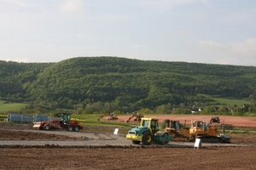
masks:
[[[124,108],[189,105],[195,94],[254,99],[256,67],[79,57],[57,63],[0,61],[0,96],[55,106],[108,103]]]

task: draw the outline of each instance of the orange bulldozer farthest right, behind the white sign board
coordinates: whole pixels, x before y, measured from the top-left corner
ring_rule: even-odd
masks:
[[[190,139],[195,141],[195,139],[201,139],[201,142],[210,143],[229,143],[229,134],[219,134],[217,127],[210,126],[206,121],[192,121],[191,127],[189,129]]]

